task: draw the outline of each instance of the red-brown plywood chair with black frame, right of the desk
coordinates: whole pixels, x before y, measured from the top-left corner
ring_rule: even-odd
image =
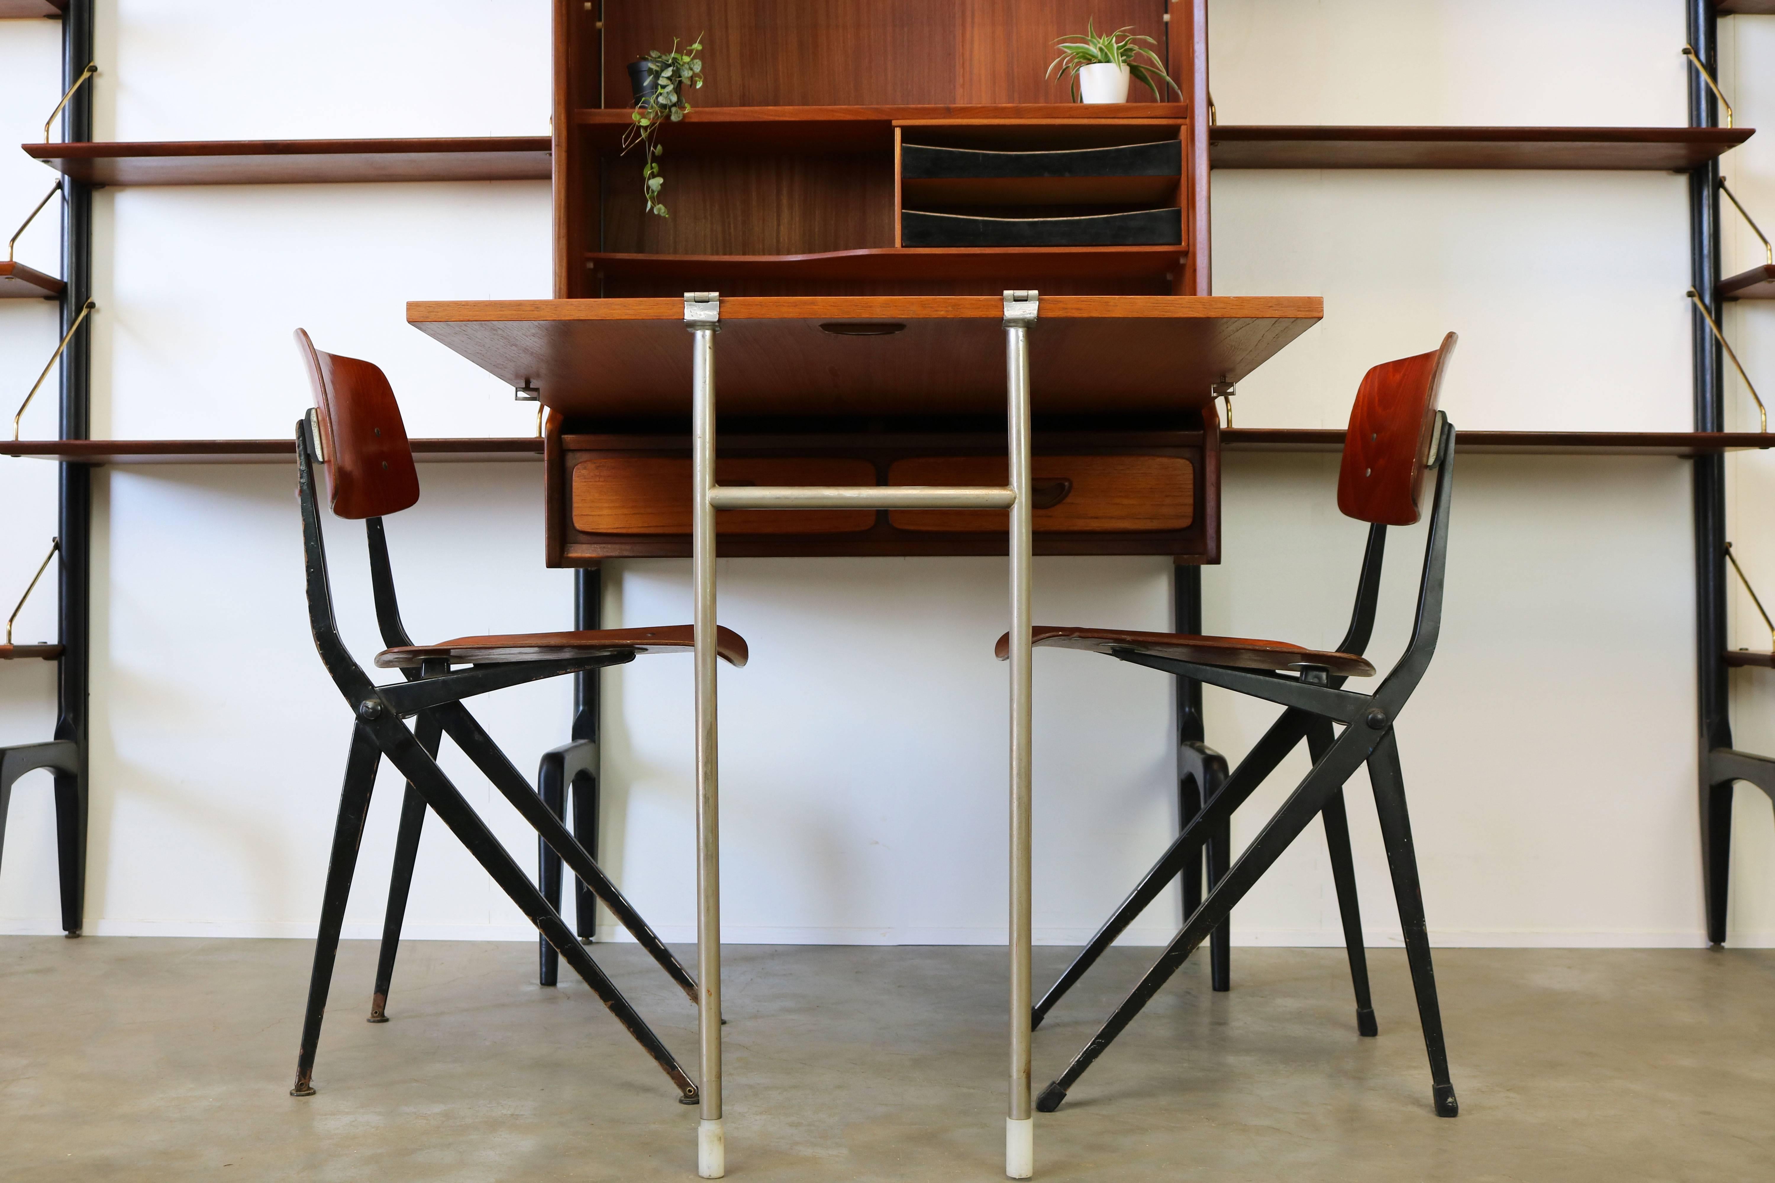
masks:
[[[1246,846],[1244,853],[1214,876],[1207,897],[1200,903],[1186,897],[1189,915],[1182,931],[1097,1036],[1047,1085],[1037,1101],[1037,1109],[1042,1112],[1060,1109],[1067,1091],[1122,1034],[1196,945],[1225,924],[1234,905],[1269,871],[1314,816],[1326,819],[1326,837],[1331,842],[1333,874],[1344,912],[1351,970],[1356,979],[1358,1030],[1374,1034],[1367,967],[1361,956],[1361,924],[1354,910],[1356,892],[1349,835],[1342,809],[1344,784],[1361,764],[1369,766],[1369,780],[1374,787],[1376,811],[1381,818],[1381,834],[1393,876],[1393,894],[1399,901],[1399,921],[1404,929],[1406,956],[1411,963],[1418,1016],[1424,1023],[1424,1045],[1429,1052],[1434,1110],[1443,1117],[1454,1117],[1459,1112],[1454,1085],[1448,1080],[1448,1057],[1443,1048],[1441,1011],[1431,968],[1424,897],[1411,848],[1411,821],[1406,812],[1399,745],[1393,738],[1393,722],[1429,669],[1441,630],[1456,433],[1436,410],[1436,399],[1454,342],[1456,335],[1448,333],[1441,348],[1432,353],[1376,365],[1363,378],[1361,390],[1356,394],[1356,406],[1344,442],[1344,466],[1338,475],[1338,509],[1351,518],[1367,521],[1370,529],[1351,630],[1337,651],[1242,637],[1035,628],[1037,647],[1102,653],[1132,665],[1191,678],[1287,708],[1239,766],[1227,775],[1218,791],[1203,793],[1207,800],[1184,821],[1182,834],[1172,848],[1147,873],[1127,901],[1116,908],[1116,913],[1109,917],[1060,983],[1037,1004],[1037,1020],[1083,977],[1090,963],[1115,940],[1115,935],[1127,928],[1166,883],[1186,867],[1200,866],[1207,842],[1225,834],[1232,812],[1251,796],[1301,740],[1306,740],[1314,761],[1312,770]],[[1361,649],[1367,646],[1374,624],[1386,527],[1418,521],[1424,479],[1429,472],[1436,474],[1436,484],[1431,498],[1429,539],[1411,642],[1374,693],[1347,690],[1344,688],[1347,678],[1370,678],[1376,672],[1374,665],[1361,656]],[[1001,658],[1005,651],[1006,642],[1001,639]],[[1337,725],[1342,725],[1342,733],[1335,731]]]

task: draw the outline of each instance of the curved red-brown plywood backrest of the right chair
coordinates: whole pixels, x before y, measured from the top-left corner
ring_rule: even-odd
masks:
[[[1383,362],[1363,376],[1344,436],[1337,507],[1374,525],[1415,525],[1422,516],[1425,461],[1436,397],[1456,335],[1434,353]]]

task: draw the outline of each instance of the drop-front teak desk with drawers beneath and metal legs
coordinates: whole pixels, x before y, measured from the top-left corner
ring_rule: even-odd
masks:
[[[705,1178],[724,1171],[717,548],[1010,553],[1006,1174],[1028,1178],[1030,553],[1216,562],[1214,392],[1321,314],[1314,298],[1030,291],[408,305],[417,328],[547,408],[550,566],[694,555]],[[783,502],[818,507],[765,507]]]

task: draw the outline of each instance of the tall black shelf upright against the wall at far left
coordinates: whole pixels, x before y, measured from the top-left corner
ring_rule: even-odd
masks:
[[[92,62],[92,7],[94,0],[71,0],[62,16],[62,89]],[[69,142],[92,138],[92,82],[62,108],[62,138]],[[92,296],[92,188],[67,179],[62,184],[62,333],[67,332],[80,309]],[[82,326],[62,353],[62,413],[64,440],[85,440],[92,422],[92,328]],[[62,658],[57,676],[55,738],[73,741],[78,750],[78,803],[75,795],[57,793],[57,828],[62,842],[78,844],[78,858],[69,867],[64,862],[64,880],[73,874],[75,899],[83,899],[85,880],[85,786],[87,786],[87,699],[92,637],[92,468],[87,465],[60,465],[59,516],[62,537],[62,564],[57,596],[57,630]],[[64,800],[69,803],[64,805]],[[67,812],[78,816],[66,816]],[[64,912],[67,910],[64,881]],[[80,912],[80,906],[75,906]],[[78,915],[75,917],[80,919]],[[66,924],[66,917],[64,917]],[[78,935],[78,928],[69,935]]]

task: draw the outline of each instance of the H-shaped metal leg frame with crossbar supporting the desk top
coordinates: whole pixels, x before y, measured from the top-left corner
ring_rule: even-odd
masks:
[[[698,1029],[698,1174],[726,1172],[721,1107],[721,850],[719,725],[715,709],[715,513],[722,509],[1008,509],[1010,511],[1010,1103],[1005,1123],[1005,1174],[1035,1172],[1030,1089],[1030,752],[1031,630],[1030,580],[1035,491],[1030,461],[1030,328],[1038,294],[1005,293],[1005,387],[1010,484],[951,486],[767,486],[715,484],[715,333],[721,296],[685,293],[683,321],[692,335],[692,529],[696,585],[696,977],[701,991]]]

